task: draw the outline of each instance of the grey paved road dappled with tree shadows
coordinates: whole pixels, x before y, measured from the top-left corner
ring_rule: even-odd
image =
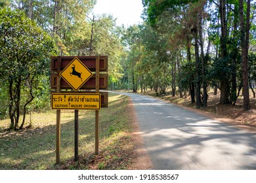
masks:
[[[152,169],[256,169],[256,133],[159,99],[125,95],[134,103]]]

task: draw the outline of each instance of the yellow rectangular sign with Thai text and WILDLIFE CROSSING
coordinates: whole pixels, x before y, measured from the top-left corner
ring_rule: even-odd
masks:
[[[99,93],[52,93],[53,109],[93,109],[100,110]]]

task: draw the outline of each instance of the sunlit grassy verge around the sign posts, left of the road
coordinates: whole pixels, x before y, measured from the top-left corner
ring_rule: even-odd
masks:
[[[100,110],[99,156],[94,155],[95,111],[79,110],[77,162],[74,162],[74,110],[62,110],[60,165],[55,165],[55,110],[33,113],[33,126],[21,131],[7,131],[9,120],[0,120],[0,169],[133,169],[135,144],[131,141],[133,126],[127,106],[125,95],[109,93],[109,107]]]

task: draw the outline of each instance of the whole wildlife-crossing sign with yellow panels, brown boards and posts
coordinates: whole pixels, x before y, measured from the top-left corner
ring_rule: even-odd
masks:
[[[100,72],[108,72],[108,56],[51,58],[51,107],[56,109],[56,164],[60,164],[62,109],[75,110],[75,161],[79,157],[79,110],[95,110],[95,154],[99,154],[99,110],[108,107],[108,92],[100,92],[108,90],[108,74]]]

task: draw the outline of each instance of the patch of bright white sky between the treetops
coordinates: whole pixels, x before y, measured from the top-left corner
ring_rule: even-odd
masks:
[[[112,14],[117,25],[128,27],[143,22],[142,11],[142,0],[97,0],[93,14]]]

